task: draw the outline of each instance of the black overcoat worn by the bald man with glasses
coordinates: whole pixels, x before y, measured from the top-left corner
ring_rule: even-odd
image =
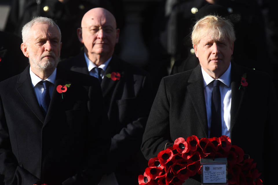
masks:
[[[59,65],[89,75],[84,53]],[[145,71],[115,56],[109,62],[105,75],[112,72],[120,73],[120,80],[113,81],[104,76],[101,82],[112,128],[110,167],[120,185],[137,185],[138,174],[147,167],[140,145],[152,103],[151,84]]]

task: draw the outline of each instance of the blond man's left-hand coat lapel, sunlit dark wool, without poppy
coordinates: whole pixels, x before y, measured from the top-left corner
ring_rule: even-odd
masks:
[[[187,90],[191,97],[192,104],[198,116],[199,122],[201,123],[203,131],[206,136],[208,136],[208,121],[204,98],[204,82],[200,65],[193,69],[188,79],[188,83]]]

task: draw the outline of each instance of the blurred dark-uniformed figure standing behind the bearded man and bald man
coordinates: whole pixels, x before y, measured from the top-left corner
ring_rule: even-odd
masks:
[[[52,18],[61,28],[63,36],[61,59],[69,58],[81,51],[82,45],[76,38],[76,29],[80,26],[83,15],[95,7],[120,12],[121,5],[120,0],[12,0],[5,31],[20,36],[22,26],[33,17]]]

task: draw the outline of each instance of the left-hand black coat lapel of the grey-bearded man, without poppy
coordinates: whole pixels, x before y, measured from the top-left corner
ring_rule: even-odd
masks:
[[[36,117],[43,123],[44,115],[39,106],[38,100],[36,98],[31,77],[29,73],[30,66],[28,66],[20,75],[17,82],[17,90],[21,97],[24,99],[26,104],[32,110],[32,112],[36,115]]]

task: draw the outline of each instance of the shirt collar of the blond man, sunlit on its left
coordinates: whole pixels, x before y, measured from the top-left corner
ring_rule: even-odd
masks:
[[[213,80],[215,80],[213,77],[211,77],[206,71],[201,67],[203,79],[204,79],[204,87],[206,87],[208,84],[210,84]],[[231,83],[231,62],[228,67],[228,69],[225,71],[223,75],[221,75],[218,80],[220,80],[223,84],[225,84],[227,87],[230,86]]]

